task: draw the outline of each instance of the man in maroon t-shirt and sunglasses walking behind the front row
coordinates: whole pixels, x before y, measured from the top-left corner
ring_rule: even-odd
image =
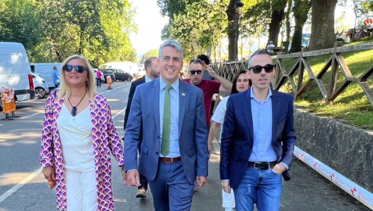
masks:
[[[209,128],[211,122],[210,113],[212,96],[218,94],[220,91],[231,90],[232,84],[227,79],[216,74],[211,67],[208,67],[207,71],[216,81],[202,79],[204,73],[203,63],[198,59],[192,60],[189,63],[190,79],[184,79],[184,81],[202,89],[203,100],[205,103],[206,125],[207,128]]]

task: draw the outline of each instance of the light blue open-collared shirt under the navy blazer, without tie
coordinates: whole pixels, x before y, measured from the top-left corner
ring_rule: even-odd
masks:
[[[249,157],[250,162],[272,162],[277,161],[277,154],[272,147],[272,91],[269,88],[266,100],[260,102],[256,99],[252,88],[251,114],[254,129],[254,145]],[[288,165],[281,162],[288,168]]]

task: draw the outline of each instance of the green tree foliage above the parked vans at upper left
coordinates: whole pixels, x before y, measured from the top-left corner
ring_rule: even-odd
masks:
[[[1,0],[0,12],[0,41],[22,43],[31,62],[62,62],[73,54],[94,65],[137,61],[127,0]]]

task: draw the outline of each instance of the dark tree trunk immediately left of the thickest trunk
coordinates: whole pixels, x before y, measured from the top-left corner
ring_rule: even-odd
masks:
[[[290,52],[299,52],[302,50],[302,31],[303,26],[308,19],[308,12],[311,9],[311,1],[310,0],[294,0],[294,19],[295,19],[295,27],[294,27],[294,35],[293,40],[291,42],[291,49]]]

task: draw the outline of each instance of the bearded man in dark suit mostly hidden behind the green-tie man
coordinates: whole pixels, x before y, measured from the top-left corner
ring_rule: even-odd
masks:
[[[128,103],[127,103],[127,107],[125,109],[125,115],[124,115],[124,135],[125,135],[125,127],[127,126],[129,111],[131,110],[132,99],[133,99],[133,95],[135,94],[136,87],[140,84],[151,82],[152,80],[159,77],[157,57],[149,57],[148,59],[146,59],[144,63],[144,67],[145,67],[146,75],[132,82],[131,88],[129,89]],[[138,149],[140,153],[141,142],[139,142]],[[146,198],[147,179],[144,175],[141,175],[141,174],[140,174],[140,184],[141,185],[138,187],[139,191],[136,194],[136,198]]]

